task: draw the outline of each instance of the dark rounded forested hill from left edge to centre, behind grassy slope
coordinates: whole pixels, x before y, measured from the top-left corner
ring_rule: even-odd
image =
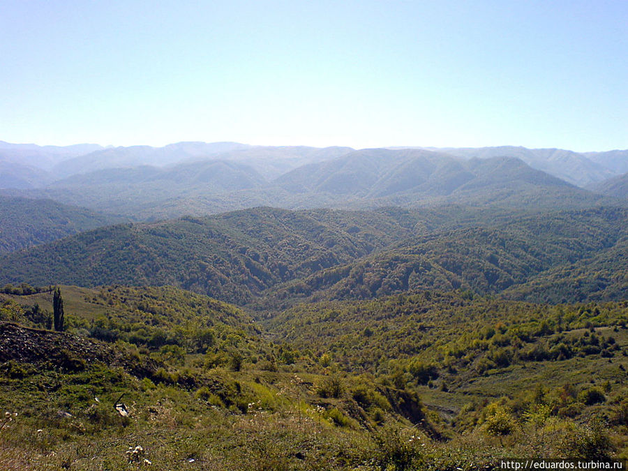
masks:
[[[269,208],[116,225],[10,254],[0,262],[0,283],[175,285],[241,304],[410,231],[382,212]]]

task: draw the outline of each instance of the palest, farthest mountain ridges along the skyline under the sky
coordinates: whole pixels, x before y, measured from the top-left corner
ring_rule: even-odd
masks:
[[[427,149],[465,159],[516,157],[536,170],[553,174],[581,187],[628,172],[628,150],[578,153],[565,149],[528,149],[514,146],[389,149]],[[306,146],[254,146],[238,142],[177,142],[164,147],[137,145],[104,148],[98,144],[59,147],[0,141],[0,160],[9,160],[46,171],[54,170],[54,174],[68,177],[71,174],[105,168],[162,166],[199,158],[219,158],[260,165],[256,170],[265,178],[274,179],[299,165],[329,160],[353,150],[350,147],[321,149]]]

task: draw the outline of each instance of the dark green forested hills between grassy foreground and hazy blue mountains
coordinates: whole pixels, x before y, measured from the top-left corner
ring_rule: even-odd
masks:
[[[627,272],[625,260],[609,254],[621,253],[628,209],[563,211],[503,223],[477,216],[453,227],[446,214],[439,223],[428,212],[399,209],[257,208],[103,227],[6,255],[0,283],[174,285],[265,308],[291,299],[359,299],[432,288],[509,289],[513,297],[535,299],[538,290],[527,287],[522,294],[515,287],[542,284],[555,271],[588,260],[590,267],[615,270],[615,277],[604,287],[585,285],[578,300],[593,292],[615,299],[622,292],[616,285]],[[569,285],[560,294],[571,299]]]

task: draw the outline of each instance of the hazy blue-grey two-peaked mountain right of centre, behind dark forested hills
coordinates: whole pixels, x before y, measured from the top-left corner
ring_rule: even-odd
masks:
[[[459,160],[420,149],[364,149],[304,165],[274,181],[299,195],[336,195],[354,206],[438,204],[534,205],[548,209],[591,206],[601,200],[534,170],[518,158]]]

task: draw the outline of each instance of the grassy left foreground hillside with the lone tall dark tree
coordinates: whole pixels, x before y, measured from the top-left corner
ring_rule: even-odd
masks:
[[[17,412],[11,421],[5,417],[0,436],[5,468],[128,469],[128,447],[141,444],[142,460],[160,470],[348,469],[379,453],[377,422],[409,426],[422,414],[408,391],[352,375],[338,375],[338,396],[321,393],[331,371],[264,340],[234,306],[167,287],[61,289],[70,334],[32,330],[28,336],[21,329],[24,346],[3,349],[3,360],[11,360],[0,365],[0,408]],[[29,322],[15,301],[24,308],[41,301],[46,308],[45,296],[0,294],[0,315]],[[211,330],[201,350],[199,322]],[[118,329],[132,343],[101,343],[99,351],[98,341],[82,338],[94,326],[100,334]],[[163,345],[142,337],[152,328],[167,334]],[[138,375],[133,364],[120,368],[105,360],[116,351],[127,352],[136,366],[161,367]],[[238,368],[230,366],[234,355],[241,357]],[[382,391],[383,409],[357,403],[351,391],[358,386]],[[112,407],[120,396],[130,417]]]

